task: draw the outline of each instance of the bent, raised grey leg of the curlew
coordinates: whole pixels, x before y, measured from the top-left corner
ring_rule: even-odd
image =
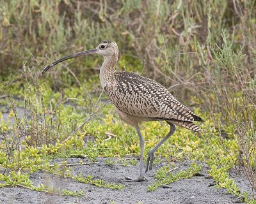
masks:
[[[168,122],[168,124],[170,125],[170,131],[169,133],[164,136],[163,140],[161,140],[159,143],[157,143],[157,145],[150,149],[149,152],[148,152],[148,157],[147,157],[147,163],[146,163],[146,171],[148,171],[148,168],[149,170],[152,170],[152,166],[153,166],[153,161],[154,161],[154,152],[157,150],[157,148],[159,148],[170,136],[173,135],[173,133],[176,131],[176,126],[170,122]]]

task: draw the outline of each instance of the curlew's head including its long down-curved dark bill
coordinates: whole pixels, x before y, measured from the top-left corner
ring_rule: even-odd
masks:
[[[85,50],[82,52],[77,52],[72,55],[68,55],[67,57],[63,57],[61,59],[58,59],[55,62],[52,62],[48,66],[45,66],[42,73],[45,73],[48,69],[52,68],[56,64],[66,61],[67,59],[72,59],[75,57],[83,56],[83,55],[90,55],[90,54],[99,54],[102,55],[104,58],[111,57],[113,55],[118,56],[118,47],[114,41],[102,41],[96,48],[93,48],[92,50]]]

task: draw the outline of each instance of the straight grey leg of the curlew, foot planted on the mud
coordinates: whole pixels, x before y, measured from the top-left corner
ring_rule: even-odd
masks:
[[[136,130],[137,130],[138,136],[140,138],[140,175],[136,179],[132,179],[132,178],[126,177],[125,179],[127,181],[143,181],[143,180],[147,180],[144,177],[144,175],[143,175],[143,151],[144,151],[144,146],[145,146],[145,140],[143,139],[143,136],[140,133],[140,128],[139,128],[138,124],[136,125]]]

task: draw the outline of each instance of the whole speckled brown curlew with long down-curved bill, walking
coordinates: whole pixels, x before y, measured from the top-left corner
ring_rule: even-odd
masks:
[[[139,182],[147,180],[145,173],[152,170],[154,152],[175,133],[176,126],[199,133],[201,129],[193,122],[204,122],[204,120],[196,116],[185,105],[182,105],[163,85],[155,80],[129,71],[117,71],[118,45],[115,41],[102,41],[96,48],[63,57],[45,66],[42,73],[67,59],[90,54],[99,54],[104,57],[99,73],[102,89],[115,106],[120,119],[134,126],[140,139],[139,175],[138,177],[126,177],[125,179]],[[143,171],[145,140],[141,135],[139,125],[145,121],[161,120],[169,124],[170,130],[154,148],[149,150],[145,171]]]

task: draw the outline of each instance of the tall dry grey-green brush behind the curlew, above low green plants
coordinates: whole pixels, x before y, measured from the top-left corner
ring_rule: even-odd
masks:
[[[225,120],[234,119],[232,110],[246,120],[244,108],[255,110],[255,1],[12,0],[1,4],[1,13],[2,80],[20,75],[23,63],[40,71],[63,55],[114,40],[119,69],[156,79],[181,101],[197,96]],[[83,82],[97,75],[101,61],[76,59],[68,68]],[[67,72],[54,68],[51,86],[79,85]]]

